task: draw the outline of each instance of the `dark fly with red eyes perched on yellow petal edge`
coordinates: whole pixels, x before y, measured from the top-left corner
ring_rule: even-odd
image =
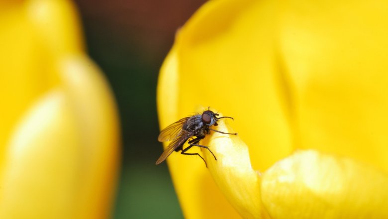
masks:
[[[171,141],[166,150],[162,153],[156,164],[162,163],[173,151],[179,152],[186,155],[198,155],[207,167],[206,161],[198,153],[187,153],[187,151],[193,146],[206,148],[213,155],[214,159],[217,160],[213,152],[204,145],[200,145],[199,141],[202,140],[206,135],[210,134],[210,131],[219,132],[222,134],[237,134],[237,133],[226,133],[212,129],[211,126],[217,126],[217,121],[221,118],[231,118],[229,116],[217,117],[219,114],[214,113],[211,110],[205,110],[202,114],[194,114],[182,118],[171,125],[163,129],[158,137],[160,142]],[[189,146],[183,148],[184,144],[188,141]]]

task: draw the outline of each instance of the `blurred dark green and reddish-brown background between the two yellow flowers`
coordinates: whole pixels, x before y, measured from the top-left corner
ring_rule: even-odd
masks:
[[[122,169],[113,217],[183,218],[157,141],[156,85],[176,30],[204,0],[76,0],[90,57],[113,89]]]

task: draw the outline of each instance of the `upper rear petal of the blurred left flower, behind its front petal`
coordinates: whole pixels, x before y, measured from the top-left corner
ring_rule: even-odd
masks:
[[[69,0],[5,3],[0,13],[0,145],[32,103],[59,84],[58,56],[83,49],[79,20]],[[12,74],[10,74],[12,73]],[[12,91],[12,92],[9,92]]]

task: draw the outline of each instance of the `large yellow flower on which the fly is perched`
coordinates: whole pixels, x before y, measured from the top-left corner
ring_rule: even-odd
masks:
[[[388,218],[387,10],[213,0],[194,14],[161,69],[160,126],[211,106],[239,135],[202,141],[208,169],[167,159],[185,217]]]

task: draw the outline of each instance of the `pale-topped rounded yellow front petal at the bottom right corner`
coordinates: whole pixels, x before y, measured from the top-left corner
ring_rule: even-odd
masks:
[[[262,199],[274,219],[388,218],[388,176],[365,163],[297,151],[263,174]]]

